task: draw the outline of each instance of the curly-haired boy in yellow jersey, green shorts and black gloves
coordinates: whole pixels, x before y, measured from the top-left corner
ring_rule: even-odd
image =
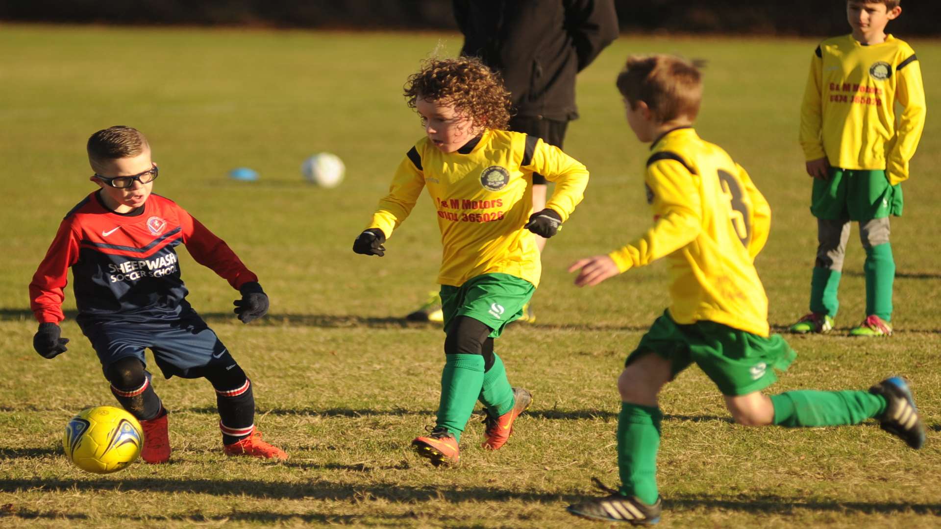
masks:
[[[532,396],[510,386],[493,340],[538,286],[534,234],[548,238],[559,230],[582,201],[588,171],[535,136],[504,130],[509,93],[480,59],[429,59],[408,78],[405,95],[426,136],[407,152],[353,251],[384,255],[386,239],[428,189],[443,246],[446,361],[437,424],[412,445],[438,466],[458,461],[458,441],[478,399],[490,450],[502,447],[529,406]],[[556,188],[546,208],[530,215],[533,172]]]

